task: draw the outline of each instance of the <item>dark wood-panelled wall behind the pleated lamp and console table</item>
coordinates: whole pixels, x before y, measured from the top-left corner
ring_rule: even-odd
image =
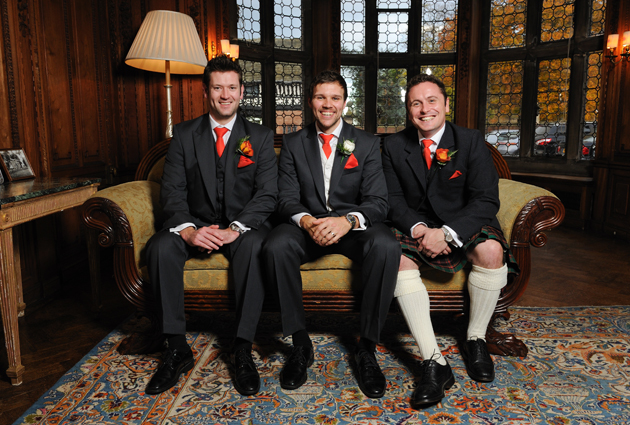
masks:
[[[127,66],[147,12],[190,15],[209,57],[229,38],[228,0],[0,0],[0,149],[23,148],[38,177],[133,178],[165,138],[164,74]],[[171,78],[173,122],[205,109],[201,75]],[[85,264],[77,209],[20,226],[27,305]]]

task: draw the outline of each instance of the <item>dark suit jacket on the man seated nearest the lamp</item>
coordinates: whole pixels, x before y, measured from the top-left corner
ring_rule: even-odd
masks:
[[[238,141],[246,136],[254,151],[254,163],[238,168]],[[173,128],[162,176],[163,228],[187,222],[197,227],[221,224],[218,190],[225,190],[223,213],[229,222],[257,229],[275,210],[278,169],[271,130],[237,115],[223,153],[227,155],[224,184],[217,181],[214,152],[208,114]]]

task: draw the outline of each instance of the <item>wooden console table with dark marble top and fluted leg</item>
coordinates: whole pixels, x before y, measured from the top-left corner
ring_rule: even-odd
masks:
[[[0,185],[0,310],[13,385],[22,383],[18,315],[24,313],[20,249],[13,227],[82,205],[93,195],[100,179],[41,178]]]

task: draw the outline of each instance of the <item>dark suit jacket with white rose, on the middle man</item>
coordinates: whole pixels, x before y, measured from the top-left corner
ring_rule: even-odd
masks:
[[[303,212],[317,218],[360,212],[368,224],[385,220],[387,187],[381,164],[380,139],[344,122],[339,143],[346,139],[355,142],[353,154],[358,165],[346,169],[349,157],[335,150],[328,192],[332,206],[329,212],[315,124],[284,136],[278,164],[278,210],[283,220]]]

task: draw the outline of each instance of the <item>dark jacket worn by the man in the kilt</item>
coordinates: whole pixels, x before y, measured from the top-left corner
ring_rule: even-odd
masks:
[[[446,122],[438,149],[457,151],[440,166],[433,159],[429,179],[418,130],[408,127],[385,139],[383,169],[389,191],[389,219],[401,232],[428,217],[418,212],[428,199],[434,212],[464,243],[484,225],[500,229],[499,176],[481,133]]]

